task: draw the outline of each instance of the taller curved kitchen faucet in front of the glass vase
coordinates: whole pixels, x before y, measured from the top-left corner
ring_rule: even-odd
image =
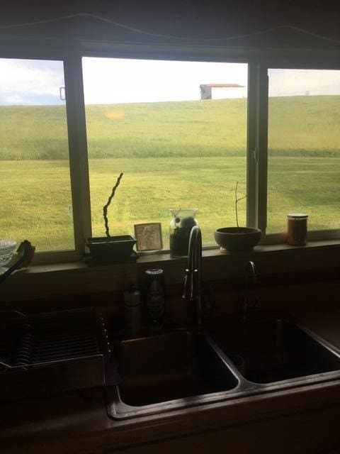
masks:
[[[190,233],[183,298],[195,304],[196,323],[200,326],[203,323],[202,234],[198,226],[193,226]]]

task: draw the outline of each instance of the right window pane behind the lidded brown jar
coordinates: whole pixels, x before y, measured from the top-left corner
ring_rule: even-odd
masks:
[[[268,233],[339,228],[340,71],[269,70]]]

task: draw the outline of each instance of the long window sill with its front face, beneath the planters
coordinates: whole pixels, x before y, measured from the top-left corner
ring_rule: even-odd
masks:
[[[254,260],[259,275],[304,270],[324,270],[340,265],[339,240],[320,240],[306,246],[258,245],[251,251],[221,253],[203,250],[203,279],[217,281],[244,275],[247,260]],[[95,294],[125,289],[130,282],[142,284],[149,267],[164,270],[166,284],[183,282],[187,259],[169,253],[145,253],[136,263],[89,266],[84,262],[30,266],[1,284],[0,302]]]

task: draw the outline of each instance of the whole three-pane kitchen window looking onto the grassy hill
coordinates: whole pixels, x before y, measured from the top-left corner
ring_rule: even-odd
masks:
[[[8,52],[1,237],[28,238],[52,251],[47,261],[58,250],[58,260],[81,257],[84,238],[104,235],[102,208],[124,172],[108,211],[113,235],[161,222],[167,248],[169,209],[197,208],[203,243],[215,244],[215,228],[236,223],[239,182],[239,224],[259,226],[265,241],[283,240],[291,211],[309,215],[311,238],[340,238],[334,55],[320,53],[313,69],[310,57],[302,68],[279,55],[268,65],[222,48]]]

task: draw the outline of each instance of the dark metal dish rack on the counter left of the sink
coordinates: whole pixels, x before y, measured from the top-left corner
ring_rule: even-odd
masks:
[[[105,384],[106,323],[93,308],[0,323],[0,401]]]

